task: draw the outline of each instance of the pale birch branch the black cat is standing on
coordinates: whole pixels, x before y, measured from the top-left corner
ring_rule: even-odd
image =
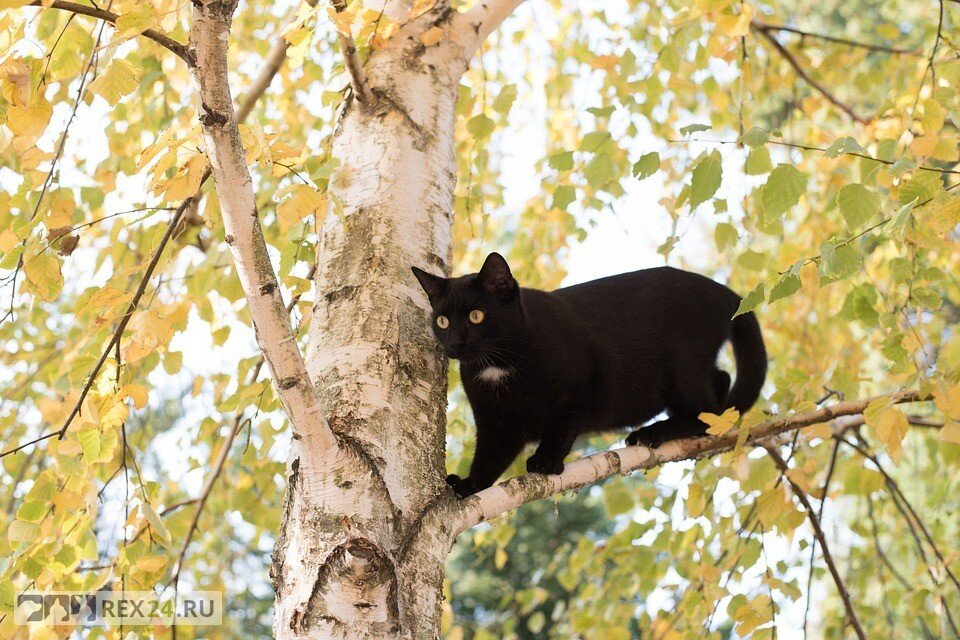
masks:
[[[894,403],[926,400],[918,391],[899,391],[888,397]],[[803,427],[828,422],[840,416],[859,415],[876,398],[848,400],[804,411],[785,418],[773,418],[754,426],[747,438],[757,443],[772,436],[796,431]],[[545,476],[527,473],[484,489],[460,500],[459,509],[451,525],[454,536],[485,520],[516,509],[534,500],[541,500],[570,489],[579,489],[604,478],[626,475],[658,467],[667,462],[696,460],[730,451],[737,445],[739,431],[728,431],[719,436],[672,440],[657,449],[634,446],[596,453],[566,465],[560,475]]]

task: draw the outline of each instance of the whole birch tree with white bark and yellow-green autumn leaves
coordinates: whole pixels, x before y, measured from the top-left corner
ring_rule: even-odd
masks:
[[[848,4],[0,0],[4,635],[26,589],[228,587],[272,550],[276,638],[462,637],[458,537],[612,479],[617,533],[560,556],[568,636],[776,637],[805,608],[960,637],[957,9]],[[410,266],[502,245],[557,286],[650,182],[657,253],[709,251],[758,311],[765,406],[457,500],[469,413]],[[641,493],[668,463],[682,489]]]

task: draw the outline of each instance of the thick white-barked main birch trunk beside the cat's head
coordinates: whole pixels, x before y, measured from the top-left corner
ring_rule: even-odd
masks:
[[[447,272],[466,51],[438,8],[366,61],[333,141],[344,216],[321,231],[307,368],[340,441],[296,438],[273,579],[277,638],[435,638],[453,509],[446,366],[410,272]],[[448,506],[449,505],[449,506]],[[424,518],[425,514],[429,514]],[[446,518],[450,522],[450,518]]]

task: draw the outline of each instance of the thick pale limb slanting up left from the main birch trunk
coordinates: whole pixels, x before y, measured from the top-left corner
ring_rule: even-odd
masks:
[[[200,102],[200,125],[214,185],[220,199],[227,244],[253,319],[257,345],[270,368],[294,437],[311,439],[308,449],[336,447],[336,437],[320,408],[303,354],[284,308],[257,214],[253,180],[234,113],[227,67],[227,45],[236,0],[198,0],[193,5],[190,42],[192,70]]]

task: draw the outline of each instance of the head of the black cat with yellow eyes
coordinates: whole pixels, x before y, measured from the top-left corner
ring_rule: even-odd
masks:
[[[433,308],[431,325],[448,358],[499,361],[523,328],[520,286],[499,253],[478,273],[443,278],[413,267]]]

